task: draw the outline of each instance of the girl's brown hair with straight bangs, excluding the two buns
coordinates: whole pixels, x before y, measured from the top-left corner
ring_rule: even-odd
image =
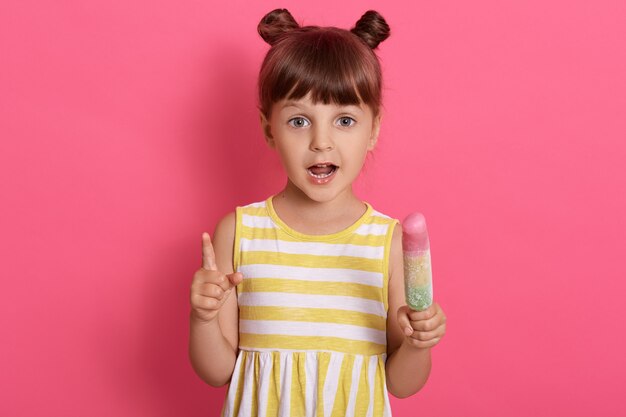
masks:
[[[298,35],[279,42],[263,63],[259,99],[266,116],[272,103],[309,93],[314,103],[365,103],[378,113],[380,67],[365,43],[336,28],[306,27]]]

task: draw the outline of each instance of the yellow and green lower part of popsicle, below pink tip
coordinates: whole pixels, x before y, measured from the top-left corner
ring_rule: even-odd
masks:
[[[404,254],[404,290],[413,310],[425,310],[433,303],[430,250]]]

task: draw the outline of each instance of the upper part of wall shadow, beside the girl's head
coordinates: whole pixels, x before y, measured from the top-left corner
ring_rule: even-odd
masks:
[[[278,158],[267,147],[259,121],[260,64],[240,45],[220,44],[206,71],[213,77],[202,96],[206,101],[199,103],[191,121],[190,162],[200,169],[193,176],[202,195],[199,204],[210,204],[220,217],[283,185]]]

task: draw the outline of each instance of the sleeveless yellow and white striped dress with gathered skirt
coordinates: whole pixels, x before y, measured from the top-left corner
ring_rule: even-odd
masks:
[[[306,235],[272,197],[236,209],[239,353],[224,417],[387,417],[389,250],[396,219],[367,206]]]

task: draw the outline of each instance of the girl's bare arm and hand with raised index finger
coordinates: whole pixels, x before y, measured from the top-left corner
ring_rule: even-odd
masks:
[[[198,376],[216,387],[230,381],[239,343],[235,286],[243,277],[233,273],[234,240],[230,213],[215,228],[213,242],[203,238],[202,267],[191,285],[189,358]]]

